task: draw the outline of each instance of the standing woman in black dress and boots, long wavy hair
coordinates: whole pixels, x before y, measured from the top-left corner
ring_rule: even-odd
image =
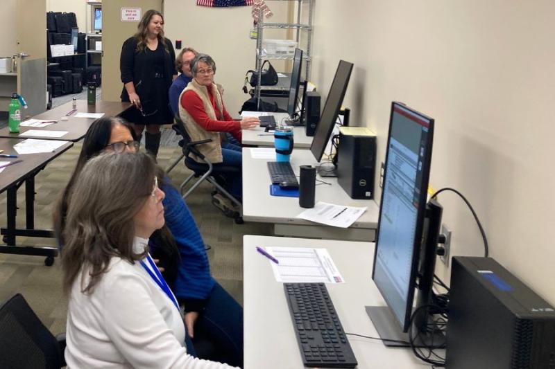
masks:
[[[131,102],[124,118],[133,123],[141,137],[146,126],[145,147],[154,156],[160,146],[160,125],[171,124],[168,91],[176,78],[176,53],[164,37],[164,17],[157,10],[144,13],[137,33],[121,48],[119,69],[123,91],[121,101]]]

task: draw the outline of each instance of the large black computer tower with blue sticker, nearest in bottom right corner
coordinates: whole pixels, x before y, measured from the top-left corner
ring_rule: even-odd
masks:
[[[447,369],[555,368],[555,309],[492,258],[452,262]]]

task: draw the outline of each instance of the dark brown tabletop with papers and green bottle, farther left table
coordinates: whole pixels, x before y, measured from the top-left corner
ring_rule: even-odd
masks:
[[[126,111],[131,106],[130,102],[113,102],[113,101],[97,101],[96,105],[88,105],[87,100],[77,100],[77,112],[80,113],[104,113],[105,116],[117,116],[123,111]],[[19,137],[19,134],[10,133],[8,127],[0,129],[0,137],[4,138],[40,138],[43,140],[64,140],[64,141],[79,141],[87,133],[87,129],[94,119],[91,118],[76,118],[75,114],[71,116],[66,116],[69,111],[73,110],[72,102],[66,102],[59,107],[51,110],[44,111],[44,113],[33,116],[35,119],[43,120],[58,120],[58,123],[49,125],[44,128],[37,127],[19,127],[19,134],[22,134],[29,129],[36,129],[38,131],[51,130],[51,131],[67,131],[62,137],[44,137],[44,136],[23,136]],[[22,116],[24,116],[25,110],[22,109]],[[67,120],[61,120],[62,118],[68,118]]]

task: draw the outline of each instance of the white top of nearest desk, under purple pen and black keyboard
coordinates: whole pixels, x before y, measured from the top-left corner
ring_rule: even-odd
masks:
[[[328,284],[343,329],[348,333],[377,336],[365,306],[386,305],[371,278],[374,244],[300,238],[244,236],[244,357],[245,369],[304,368],[283,285],[276,282],[270,260],[255,246],[326,248],[346,282]],[[382,342],[348,336],[357,368],[429,368],[409,348],[386,348]]]

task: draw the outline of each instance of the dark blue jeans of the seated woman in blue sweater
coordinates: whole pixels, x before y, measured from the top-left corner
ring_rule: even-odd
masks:
[[[243,308],[218,282],[195,323],[196,356],[243,366]]]

